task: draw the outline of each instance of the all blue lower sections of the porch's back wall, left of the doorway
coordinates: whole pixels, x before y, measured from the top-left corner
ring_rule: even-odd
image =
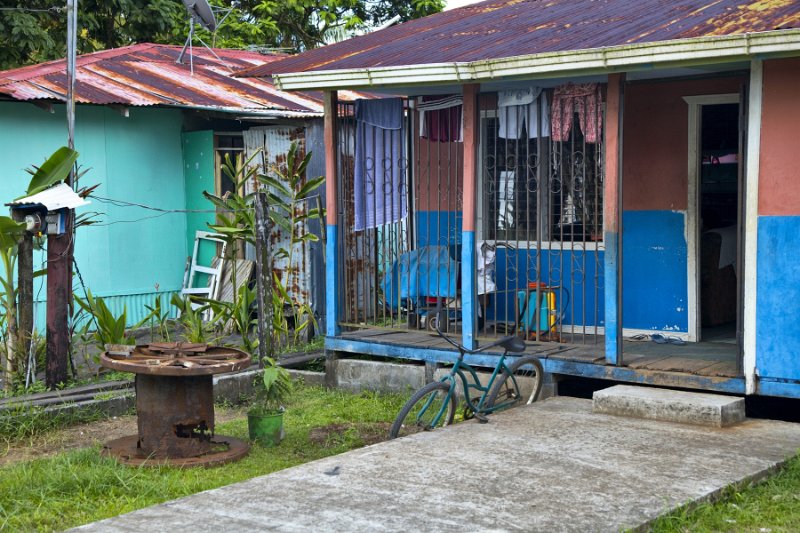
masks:
[[[459,212],[417,213],[417,245],[449,244],[460,258]],[[686,217],[674,211],[623,214],[623,325],[631,329],[688,331]],[[456,233],[457,232],[457,233]],[[458,244],[456,244],[458,243]],[[565,243],[565,247],[569,244]],[[562,286],[563,323],[604,326],[604,252],[542,250],[537,275],[535,249],[497,251],[497,293],[490,320],[514,322],[516,290],[540,280]],[[570,275],[572,273],[572,275]],[[597,309],[597,312],[595,312]]]

